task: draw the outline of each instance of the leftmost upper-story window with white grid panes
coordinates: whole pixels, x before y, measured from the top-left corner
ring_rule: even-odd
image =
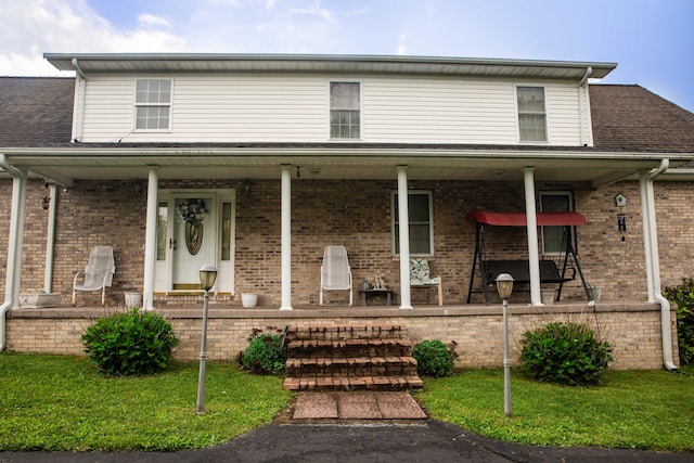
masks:
[[[171,111],[171,80],[138,79],[136,82],[137,130],[166,130]]]

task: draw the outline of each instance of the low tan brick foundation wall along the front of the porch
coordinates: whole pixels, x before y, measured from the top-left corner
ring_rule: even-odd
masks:
[[[278,309],[210,310],[207,327],[207,358],[233,360],[248,346],[254,329],[274,334],[285,325],[363,325],[399,324],[414,342],[440,339],[458,343],[458,368],[496,368],[503,360],[503,318],[499,307],[400,310],[331,309],[334,316],[314,316],[310,310]],[[200,356],[202,310],[172,309],[163,313],[171,322],[179,346],[176,358],[195,361]],[[8,349],[23,352],[83,353],[80,336],[97,317],[93,309],[13,310],[8,320]],[[540,310],[527,306],[510,308],[509,327],[512,364],[518,364],[519,339],[525,331],[550,321],[576,321],[589,324],[615,347],[613,368],[659,369],[663,366],[660,311],[655,305],[604,305],[597,313],[583,312],[579,306],[554,306]],[[677,335],[672,317],[676,363]]]

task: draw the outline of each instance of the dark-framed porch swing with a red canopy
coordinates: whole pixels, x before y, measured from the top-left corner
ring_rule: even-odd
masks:
[[[489,285],[493,284],[497,276],[501,273],[510,273],[514,281],[518,284],[530,283],[530,265],[528,260],[487,260],[485,259],[485,240],[484,233],[487,226],[493,227],[526,227],[527,217],[524,213],[488,213],[484,210],[473,210],[467,214],[465,219],[475,223],[475,256],[473,258],[473,267],[470,273],[470,288],[467,292],[467,304],[471,303],[473,293],[484,293],[485,301],[489,305]],[[562,297],[562,287],[564,283],[576,280],[576,273],[581,279],[581,284],[586,291],[589,301],[593,300],[592,291],[576,255],[576,249],[570,236],[570,228],[573,226],[586,224],[586,217],[578,213],[537,213],[537,224],[540,227],[562,227],[562,246],[563,255],[561,257],[562,269],[551,259],[540,260],[540,283],[558,284],[556,300]],[[573,260],[569,266],[569,256]],[[569,269],[571,270],[569,272]],[[474,280],[476,270],[479,270],[481,276],[483,290],[474,291]],[[570,274],[568,274],[570,273]]]

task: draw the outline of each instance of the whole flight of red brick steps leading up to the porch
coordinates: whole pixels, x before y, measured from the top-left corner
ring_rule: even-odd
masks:
[[[422,388],[412,342],[399,325],[292,326],[284,388],[406,390]]]

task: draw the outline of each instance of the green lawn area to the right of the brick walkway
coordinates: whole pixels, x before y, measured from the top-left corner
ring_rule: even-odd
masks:
[[[513,372],[513,414],[503,414],[503,371],[470,370],[425,378],[416,395],[436,420],[502,440],[694,451],[694,376],[608,371],[593,387],[537,383]]]

